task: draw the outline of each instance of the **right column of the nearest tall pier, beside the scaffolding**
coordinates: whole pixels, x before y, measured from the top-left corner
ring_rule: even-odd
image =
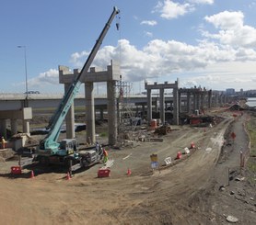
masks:
[[[115,81],[107,82],[108,97],[108,124],[109,124],[109,144],[115,145],[117,141],[117,110],[116,110],[116,85]]]

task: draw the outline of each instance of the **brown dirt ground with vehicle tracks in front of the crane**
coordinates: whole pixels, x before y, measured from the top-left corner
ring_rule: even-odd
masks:
[[[244,122],[252,117],[212,113],[223,118],[212,128],[172,126],[163,142],[110,150],[110,177],[97,178],[100,164],[70,180],[62,172],[41,173],[37,167],[34,178],[28,169],[13,176],[9,168],[17,162],[1,162],[1,223],[229,224],[227,217],[233,216],[236,224],[255,224],[256,174],[239,168],[240,151],[250,151]],[[196,149],[175,160],[192,141]],[[154,172],[152,153],[160,164]],[[167,157],[172,164],[163,166]],[[128,169],[132,174],[127,175]]]

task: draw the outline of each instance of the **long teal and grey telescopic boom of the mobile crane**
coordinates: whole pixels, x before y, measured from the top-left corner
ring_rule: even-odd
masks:
[[[59,152],[59,146],[60,143],[58,143],[58,138],[60,135],[60,129],[62,126],[62,123],[64,121],[64,118],[69,110],[69,108],[72,106],[74,99],[76,97],[76,94],[79,91],[79,87],[82,84],[80,82],[80,77],[83,73],[86,73],[93,62],[97,52],[99,51],[99,47],[102,43],[102,40],[106,36],[109,28],[111,27],[111,22],[113,18],[119,14],[119,9],[117,7],[113,8],[113,11],[111,13],[111,17],[109,18],[108,22],[106,23],[105,27],[102,29],[99,39],[97,39],[92,51],[90,52],[89,56],[87,57],[87,61],[85,62],[82,70],[80,73],[74,78],[74,81],[72,84],[70,84],[68,91],[64,94],[64,97],[57,108],[55,114],[53,115],[52,119],[49,122],[49,133],[47,136],[41,141],[40,143],[40,149],[38,150],[39,154],[43,155],[53,155],[53,154],[64,154],[64,152]]]

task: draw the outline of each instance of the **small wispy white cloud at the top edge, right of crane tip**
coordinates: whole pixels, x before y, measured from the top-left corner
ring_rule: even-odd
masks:
[[[155,11],[160,13],[160,17],[173,19],[192,12],[194,7],[188,3],[180,4],[170,0],[165,0],[164,3],[158,2]]]

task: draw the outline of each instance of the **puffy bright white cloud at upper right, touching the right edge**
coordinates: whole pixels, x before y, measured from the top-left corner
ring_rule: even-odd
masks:
[[[244,25],[244,15],[242,12],[224,11],[210,17],[204,17],[204,19],[212,23],[215,28],[219,28],[218,32],[214,34],[204,31],[204,37],[217,39],[221,44],[234,47],[255,48],[256,29]]]

